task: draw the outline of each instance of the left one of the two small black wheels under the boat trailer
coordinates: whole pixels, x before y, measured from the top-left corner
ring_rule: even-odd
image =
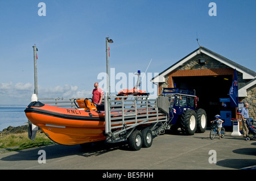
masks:
[[[140,150],[142,147],[142,134],[137,129],[129,136],[129,147],[134,151]]]

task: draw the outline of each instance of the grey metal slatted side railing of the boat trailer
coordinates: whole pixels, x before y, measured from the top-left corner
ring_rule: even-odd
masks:
[[[105,133],[109,142],[123,140],[135,127],[168,121],[168,113],[159,109],[158,98],[149,96],[105,96]],[[168,104],[167,104],[168,107]]]

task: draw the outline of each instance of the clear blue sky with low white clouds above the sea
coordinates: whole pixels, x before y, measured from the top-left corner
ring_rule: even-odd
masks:
[[[0,104],[30,103],[34,44],[40,98],[90,97],[106,71],[107,36],[115,73],[145,71],[151,59],[147,72],[160,73],[198,48],[196,33],[203,47],[256,71],[254,0],[2,0],[0,8]]]

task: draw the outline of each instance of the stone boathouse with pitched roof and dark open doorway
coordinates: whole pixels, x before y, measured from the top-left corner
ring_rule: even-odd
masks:
[[[208,123],[220,114],[226,125],[240,118],[239,110],[229,106],[229,90],[237,70],[239,102],[249,103],[249,115],[256,120],[256,73],[205,47],[199,47],[151,79],[158,94],[165,87],[195,90],[198,107],[207,112]],[[225,125],[224,124],[224,125]]]

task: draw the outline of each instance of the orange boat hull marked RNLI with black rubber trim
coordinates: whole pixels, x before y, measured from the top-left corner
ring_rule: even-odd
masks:
[[[53,141],[63,145],[106,140],[105,113],[58,108],[31,103],[25,110],[28,120]]]

